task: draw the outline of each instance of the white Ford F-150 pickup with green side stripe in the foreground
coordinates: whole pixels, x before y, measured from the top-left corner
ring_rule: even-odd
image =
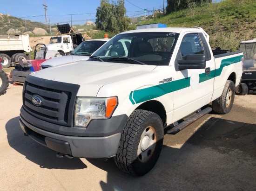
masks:
[[[242,61],[241,52],[214,56],[201,28],[122,32],[87,61],[27,76],[20,127],[59,157],[114,157],[142,176],[159,158],[164,128],[176,134],[212,109],[229,113]]]

